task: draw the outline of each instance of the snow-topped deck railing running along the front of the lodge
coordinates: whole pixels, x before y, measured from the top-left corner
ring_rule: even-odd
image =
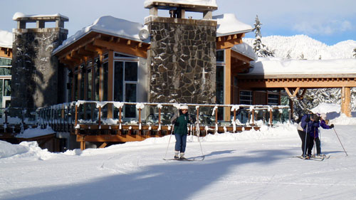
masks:
[[[189,107],[192,123],[219,132],[219,127],[256,127],[274,125],[290,120],[290,109],[285,105],[202,105],[182,104]],[[74,129],[88,128],[118,130],[122,127],[142,126],[152,130],[169,128],[170,118],[177,112],[179,104],[151,102],[69,102],[37,110],[40,125],[51,125],[53,130],[70,132]],[[226,112],[229,112],[226,115]],[[227,117],[226,117],[227,116]]]

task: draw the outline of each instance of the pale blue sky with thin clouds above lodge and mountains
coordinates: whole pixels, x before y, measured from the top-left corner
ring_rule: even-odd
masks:
[[[1,4],[0,30],[16,28],[12,17],[16,12],[62,14],[68,16],[65,28],[69,36],[90,25],[100,16],[115,16],[143,23],[149,10],[145,0],[14,0]],[[239,21],[253,26],[256,15],[262,23],[262,36],[294,36],[304,34],[328,44],[356,40],[355,0],[216,0],[214,15],[232,13]],[[159,13],[168,16],[168,11]],[[189,15],[189,14],[187,14]],[[200,15],[199,15],[200,16]],[[193,15],[194,19],[198,16]],[[246,34],[253,38],[253,33]]]

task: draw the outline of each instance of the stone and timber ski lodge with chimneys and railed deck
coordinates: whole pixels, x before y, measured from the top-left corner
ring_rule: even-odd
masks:
[[[66,16],[15,19],[16,47],[23,47],[26,37],[33,38],[28,34],[41,38],[41,34],[56,33],[53,51],[43,55],[55,64],[32,70],[43,74],[41,83],[33,84],[38,77],[14,77],[26,74],[17,68],[28,62],[18,52],[13,60],[11,107],[36,110],[40,126],[53,128],[52,138],[38,139],[43,144],[51,140],[52,149],[58,151],[63,150],[59,146],[73,149],[76,142],[85,149],[88,142],[105,147],[110,142],[161,137],[171,133],[169,118],[182,104],[189,105],[193,118],[199,119],[190,127],[195,135],[258,129],[255,120],[268,125],[290,120],[293,100],[303,98],[308,88],[342,88],[342,112],[350,116],[355,73],[256,73],[263,64],[258,66],[261,62],[251,46],[242,42],[252,27],[234,14],[213,16],[215,4],[171,1],[145,1],[145,8],[150,10],[145,26],[103,16],[69,38]],[[159,9],[167,10],[169,17],[158,16]],[[186,12],[203,17],[192,19]],[[46,28],[48,21],[56,21],[56,27]],[[36,22],[37,28],[26,28],[29,22]],[[38,65],[36,60],[31,62]],[[286,95],[291,100],[281,105]],[[57,144],[56,138],[63,144]]]

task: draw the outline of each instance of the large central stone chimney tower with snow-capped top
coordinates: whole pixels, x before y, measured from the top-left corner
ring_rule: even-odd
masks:
[[[182,2],[182,1],[179,1]],[[150,102],[215,103],[216,21],[215,4],[180,4],[172,1],[145,1],[150,16],[145,24],[151,47]],[[170,17],[157,16],[158,9]],[[185,18],[186,11],[200,12],[203,19]]]

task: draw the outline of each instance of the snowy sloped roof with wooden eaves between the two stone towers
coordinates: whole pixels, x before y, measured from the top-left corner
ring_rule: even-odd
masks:
[[[115,26],[105,26],[110,23],[114,23]],[[75,65],[93,60],[104,53],[112,56],[114,51],[146,58],[150,44],[138,38],[138,32],[142,27],[140,23],[103,16],[70,36],[53,51],[53,55],[68,68],[74,68]]]

